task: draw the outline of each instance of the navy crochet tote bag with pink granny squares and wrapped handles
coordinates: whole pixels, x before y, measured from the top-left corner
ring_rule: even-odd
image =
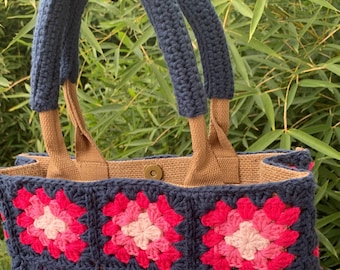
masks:
[[[227,139],[233,77],[209,0],[142,0],[167,61],[193,155],[106,161],[76,94],[86,0],[42,0],[31,106],[48,155],[0,170],[13,269],[319,269],[308,151],[236,153]],[[204,87],[184,17],[196,35]],[[75,127],[70,158],[58,119],[63,84]],[[210,131],[204,114],[210,98]]]

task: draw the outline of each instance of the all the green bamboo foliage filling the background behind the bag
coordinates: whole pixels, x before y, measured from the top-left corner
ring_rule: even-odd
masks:
[[[340,4],[213,3],[235,74],[229,138],[238,151],[310,149],[322,265],[340,268]],[[0,3],[0,17],[6,18],[0,27],[1,165],[19,152],[43,150],[39,124],[27,106],[35,12],[33,1]],[[81,107],[106,158],[191,152],[186,120],[177,115],[166,65],[139,1],[90,1],[80,61]],[[73,131],[62,102],[61,109],[72,152]]]

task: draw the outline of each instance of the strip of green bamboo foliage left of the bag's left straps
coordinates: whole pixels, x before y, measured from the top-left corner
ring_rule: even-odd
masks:
[[[12,164],[17,154],[35,144],[27,107],[32,34],[22,31],[27,29],[33,14],[33,3],[0,2],[0,164],[3,166]]]

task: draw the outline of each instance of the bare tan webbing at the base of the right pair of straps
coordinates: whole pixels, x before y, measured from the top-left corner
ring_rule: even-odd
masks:
[[[193,157],[184,181],[185,186],[240,183],[239,160],[226,135],[229,101],[212,100],[210,119],[209,138],[204,116],[189,119]]]

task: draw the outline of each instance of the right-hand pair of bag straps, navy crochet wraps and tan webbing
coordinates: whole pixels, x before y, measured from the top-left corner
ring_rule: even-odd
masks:
[[[240,183],[238,158],[226,137],[229,130],[229,99],[234,95],[232,68],[224,31],[214,7],[210,0],[141,2],[168,64],[179,113],[189,118],[193,158],[184,185]],[[198,41],[205,91],[202,91],[182,12]],[[209,139],[203,117],[206,113],[205,94],[212,100]]]

